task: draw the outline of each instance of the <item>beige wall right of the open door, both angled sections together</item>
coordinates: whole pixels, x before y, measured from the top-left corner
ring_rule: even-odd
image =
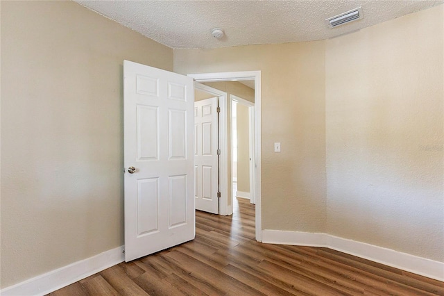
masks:
[[[436,6],[320,42],[174,51],[180,73],[262,71],[263,229],[444,261],[443,19]]]

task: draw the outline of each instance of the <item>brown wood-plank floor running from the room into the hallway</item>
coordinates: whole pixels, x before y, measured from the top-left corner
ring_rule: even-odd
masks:
[[[235,202],[237,205],[237,202]],[[49,295],[444,295],[444,283],[332,249],[255,241],[255,209],[197,211],[196,239]]]

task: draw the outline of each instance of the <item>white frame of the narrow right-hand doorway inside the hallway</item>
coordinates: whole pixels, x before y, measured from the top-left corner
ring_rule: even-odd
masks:
[[[241,104],[244,105],[248,108],[248,154],[249,154],[249,158],[250,158],[250,168],[249,168],[249,175],[250,175],[250,204],[255,204],[256,203],[256,199],[255,199],[255,170],[254,170],[254,165],[253,163],[255,163],[255,149],[253,149],[255,147],[255,103],[251,102],[251,101],[247,101],[246,99],[242,99],[241,97],[238,97],[237,95],[234,94],[230,94],[230,114],[232,117],[232,102],[233,101],[237,101],[237,104]],[[231,138],[233,136],[233,131],[232,131],[232,126],[233,124],[230,124],[230,135]],[[232,147],[230,147],[230,149],[232,149]],[[233,163],[233,154],[231,154],[231,163]],[[233,197],[234,199],[234,197]]]

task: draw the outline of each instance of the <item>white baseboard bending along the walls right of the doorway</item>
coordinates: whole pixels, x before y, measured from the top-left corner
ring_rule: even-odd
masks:
[[[327,233],[263,230],[262,242],[279,245],[327,247],[393,268],[444,281],[444,262],[433,261],[393,249],[370,245],[365,242],[330,236]]]

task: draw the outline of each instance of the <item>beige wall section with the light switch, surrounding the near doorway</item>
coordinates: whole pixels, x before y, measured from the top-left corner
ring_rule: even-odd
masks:
[[[175,72],[262,72],[263,229],[325,232],[325,42],[176,49]],[[274,153],[273,142],[282,143]]]

